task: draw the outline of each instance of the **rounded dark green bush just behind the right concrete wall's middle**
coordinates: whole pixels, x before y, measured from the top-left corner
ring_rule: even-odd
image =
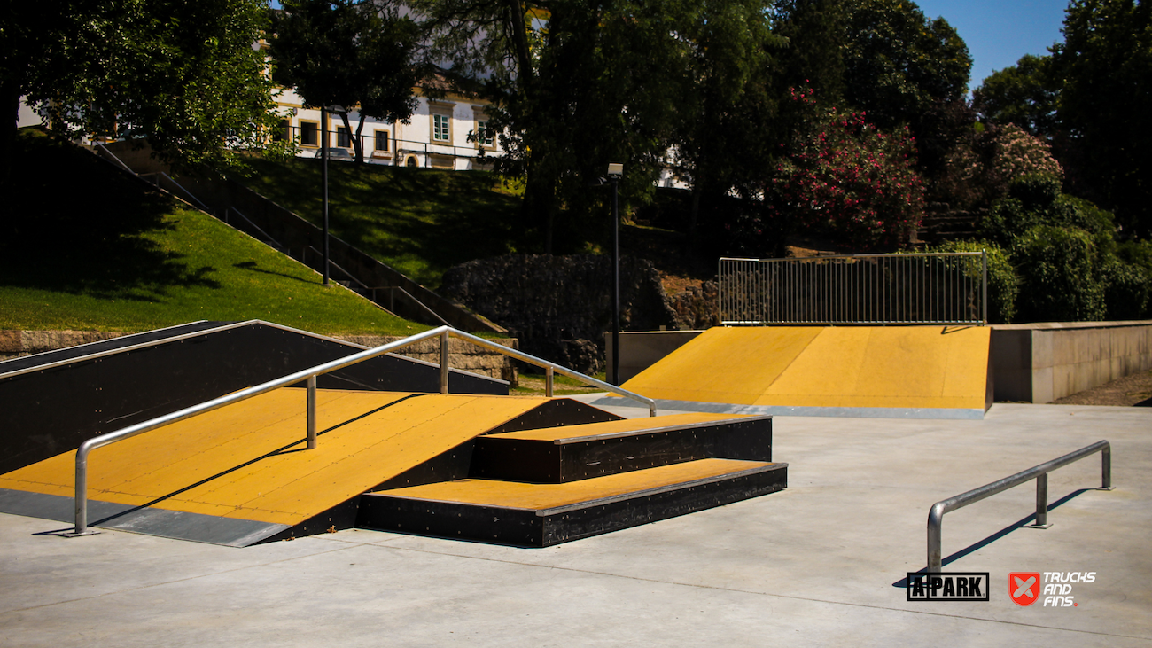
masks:
[[[1096,322],[1106,317],[1106,280],[1093,238],[1075,227],[1037,225],[1017,236],[1022,322]]]

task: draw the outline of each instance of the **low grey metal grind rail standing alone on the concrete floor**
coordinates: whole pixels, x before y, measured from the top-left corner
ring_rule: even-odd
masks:
[[[998,492],[1017,487],[1024,482],[1036,480],[1036,523],[1033,528],[1046,529],[1048,525],[1048,473],[1056,468],[1062,468],[1074,461],[1084,459],[1094,453],[1100,457],[1100,481],[1099,490],[1113,490],[1112,485],[1112,444],[1106,440],[1098,440],[1092,445],[1086,445],[1076,452],[1069,452],[1063,457],[1058,457],[1052,461],[1033,466],[1028,470],[982,485],[955,497],[949,497],[937,502],[929,510],[929,573],[938,573],[942,567],[940,557],[940,538],[943,525],[943,514],[949,511],[963,508],[969,504],[975,504],[985,497],[991,497]]]

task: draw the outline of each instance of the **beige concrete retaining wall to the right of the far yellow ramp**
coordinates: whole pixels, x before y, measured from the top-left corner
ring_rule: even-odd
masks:
[[[998,325],[991,353],[998,401],[1049,402],[1152,369],[1152,321]]]

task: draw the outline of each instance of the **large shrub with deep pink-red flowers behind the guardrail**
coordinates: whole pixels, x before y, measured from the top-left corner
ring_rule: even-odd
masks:
[[[794,90],[793,99],[814,106],[811,90]],[[911,135],[882,133],[864,113],[816,114],[776,169],[770,213],[848,247],[908,241],[924,216]]]

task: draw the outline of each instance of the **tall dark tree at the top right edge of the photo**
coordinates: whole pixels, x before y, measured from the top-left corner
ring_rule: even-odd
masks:
[[[1074,0],[1052,47],[1060,123],[1083,157],[1091,197],[1152,235],[1152,3]]]

